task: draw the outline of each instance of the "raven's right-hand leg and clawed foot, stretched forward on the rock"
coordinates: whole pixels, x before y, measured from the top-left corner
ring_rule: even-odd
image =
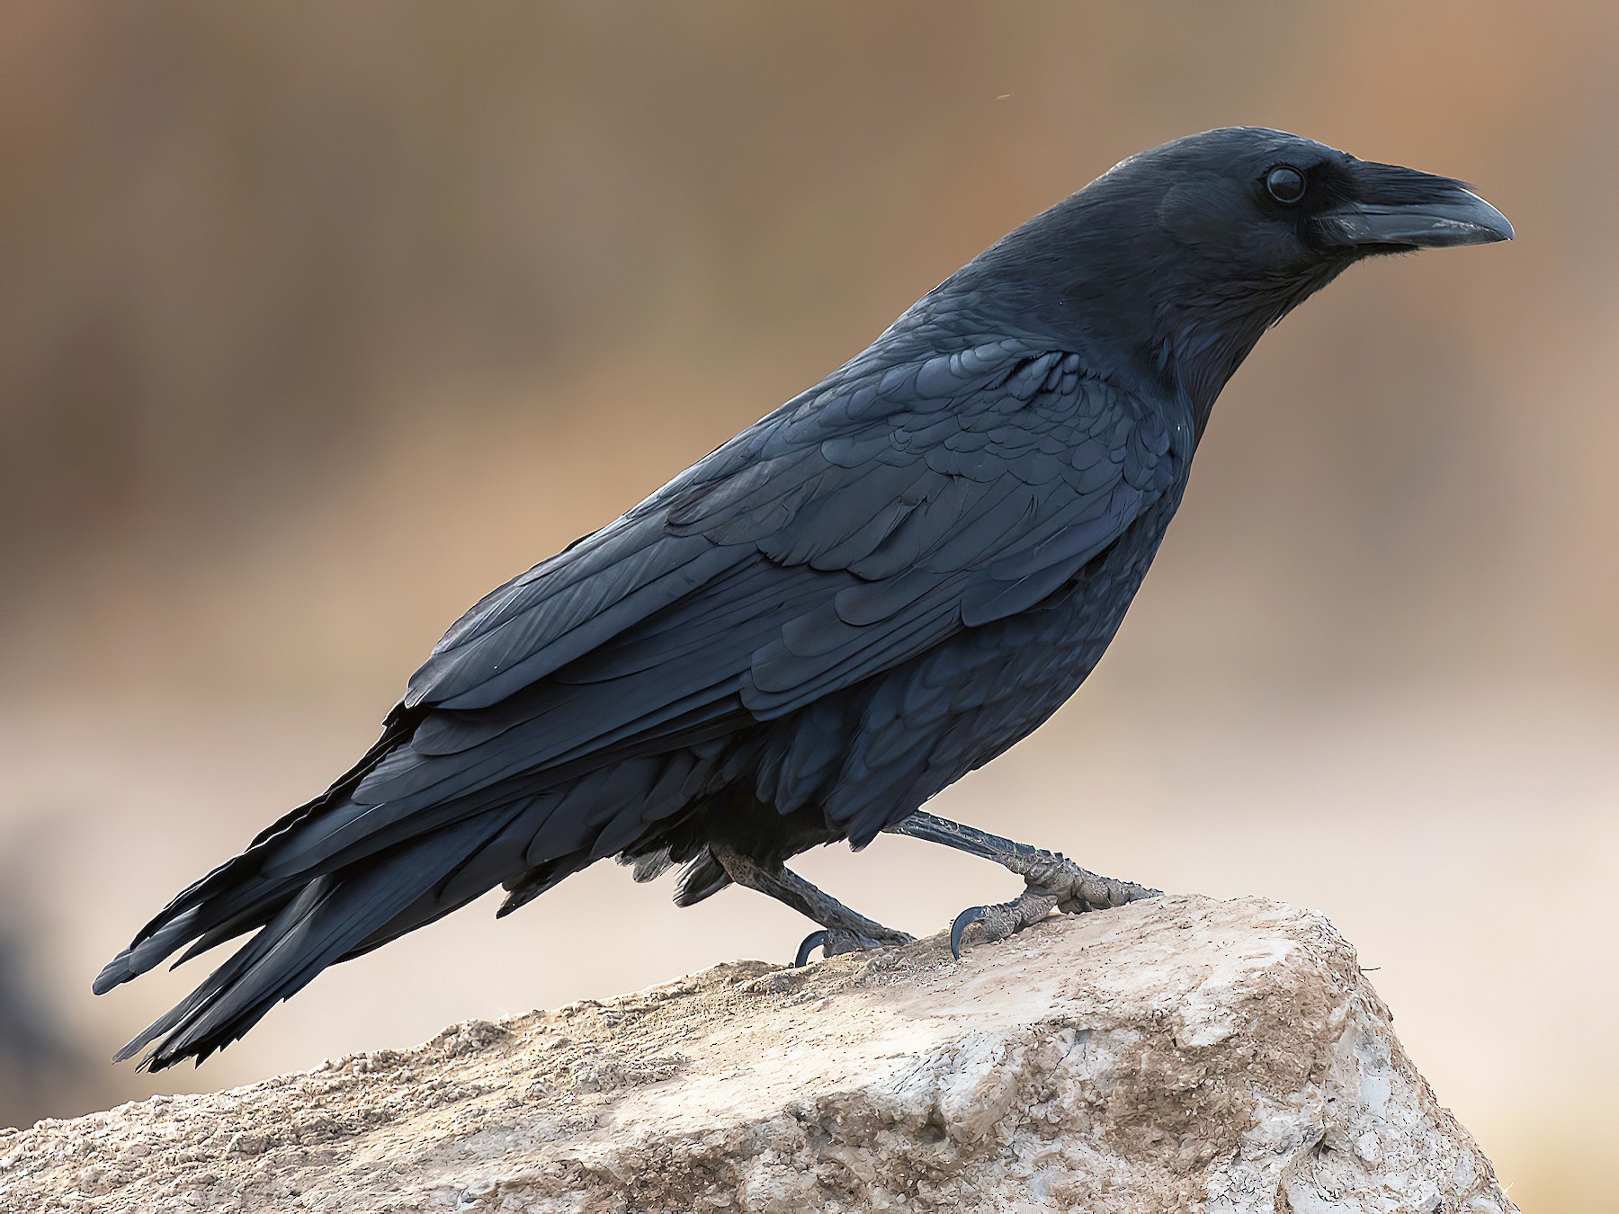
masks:
[[[1001,838],[1001,835],[991,835],[986,830],[921,811],[895,822],[889,830],[895,835],[944,843],[957,851],[992,860],[1026,882],[1023,894],[1012,902],[994,906],[968,906],[955,916],[955,923],[950,924],[950,952],[957,957],[962,955],[962,934],[975,923],[991,940],[1002,940],[1033,923],[1039,923],[1051,915],[1052,908],[1075,913],[1104,910],[1151,898],[1161,892],[1137,885],[1133,881],[1098,876],[1056,851],[1013,843],[1010,838]]]

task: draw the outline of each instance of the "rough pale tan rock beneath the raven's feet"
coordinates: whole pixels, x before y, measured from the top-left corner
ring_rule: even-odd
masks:
[[[0,1209],[1514,1206],[1326,919],[1166,897],[0,1131]]]

